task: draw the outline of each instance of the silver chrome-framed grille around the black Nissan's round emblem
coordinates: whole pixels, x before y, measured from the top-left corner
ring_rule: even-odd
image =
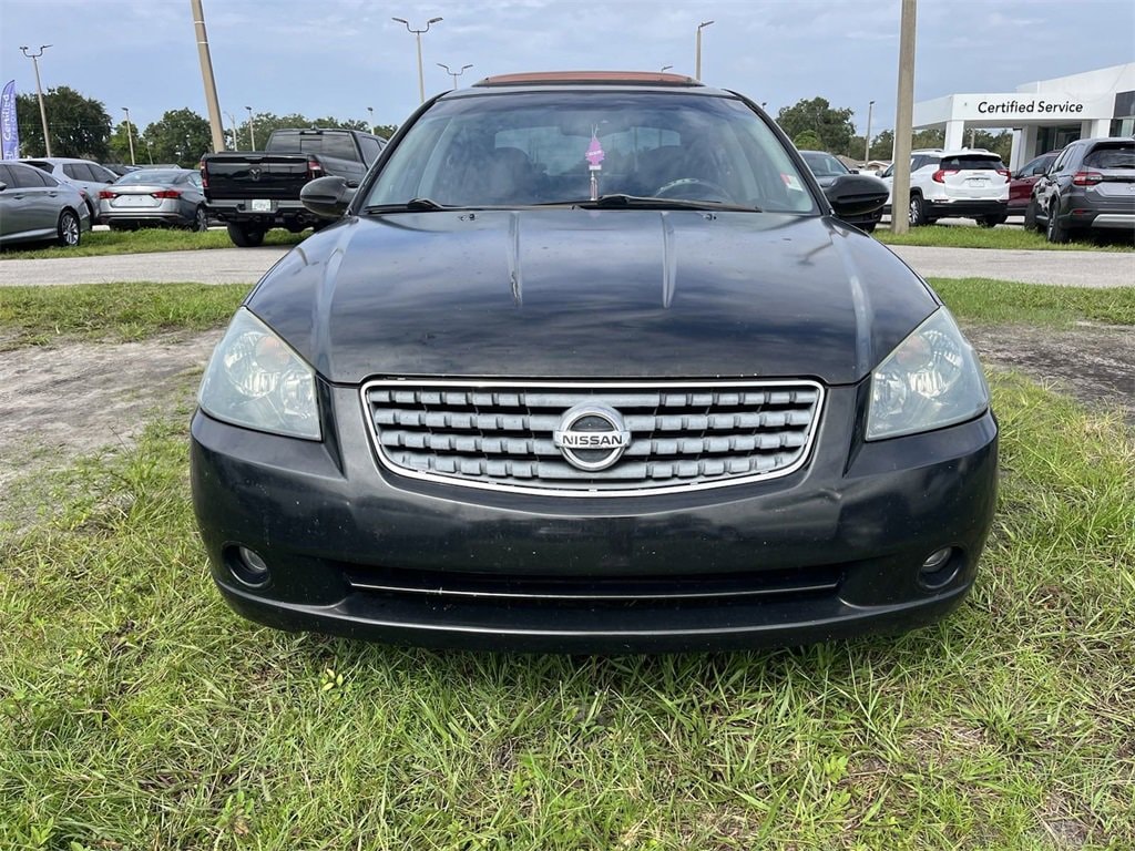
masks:
[[[379,380],[363,386],[362,399],[379,462],[401,475],[620,496],[739,485],[798,470],[815,437],[823,387]],[[606,469],[579,469],[556,445],[554,436],[566,428],[564,414],[580,405],[617,412],[629,432],[622,454]]]

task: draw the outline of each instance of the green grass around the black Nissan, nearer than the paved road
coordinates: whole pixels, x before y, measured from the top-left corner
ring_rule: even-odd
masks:
[[[936,285],[962,317],[999,301]],[[163,285],[166,329],[243,295],[193,286]],[[1135,290],[1015,290],[1039,322],[1133,323]],[[18,303],[0,334],[54,321]],[[992,388],[1000,508],[945,622],[613,658],[241,620],[196,538],[186,391],[137,446],[0,495],[0,848],[1130,849],[1135,437],[1023,378]]]

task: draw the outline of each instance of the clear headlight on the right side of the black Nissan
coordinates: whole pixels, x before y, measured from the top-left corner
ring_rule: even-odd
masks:
[[[990,404],[981,364],[945,307],[916,328],[871,377],[867,439],[972,420]]]

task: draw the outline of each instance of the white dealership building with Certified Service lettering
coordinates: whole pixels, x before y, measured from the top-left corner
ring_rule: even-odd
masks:
[[[945,148],[966,132],[1012,128],[1009,168],[1077,138],[1135,135],[1135,62],[1040,79],[1016,92],[949,94],[915,104],[915,129],[944,129]]]

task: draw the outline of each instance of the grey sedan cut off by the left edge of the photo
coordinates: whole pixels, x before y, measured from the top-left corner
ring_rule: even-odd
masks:
[[[78,245],[91,216],[77,187],[17,160],[0,162],[0,245]]]

